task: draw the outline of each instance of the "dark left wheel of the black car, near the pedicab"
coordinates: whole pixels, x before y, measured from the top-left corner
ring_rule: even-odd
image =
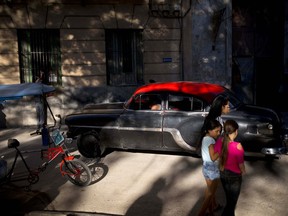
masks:
[[[90,131],[81,134],[77,140],[78,151],[87,158],[96,158],[101,156],[99,145],[99,135],[96,131]]]

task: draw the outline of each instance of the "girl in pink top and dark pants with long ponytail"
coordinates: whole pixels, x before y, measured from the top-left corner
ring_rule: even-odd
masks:
[[[234,120],[224,123],[223,137],[219,138],[214,151],[219,154],[220,179],[226,195],[223,216],[234,216],[240,195],[242,174],[245,174],[244,149],[241,143],[234,141],[238,135],[238,124]]]

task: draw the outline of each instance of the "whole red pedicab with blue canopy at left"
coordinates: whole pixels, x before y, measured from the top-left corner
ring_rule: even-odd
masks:
[[[54,91],[55,88],[53,86],[48,86],[41,83],[0,85],[0,101],[21,99],[24,96],[43,97],[44,103],[48,108],[54,123],[52,126],[48,126],[46,118],[45,123],[42,125],[41,132],[37,130],[36,132],[30,134],[30,135],[41,134],[42,146],[45,147],[45,149],[30,150],[30,151],[28,150],[21,152],[18,149],[18,146],[20,145],[18,140],[16,139],[8,140],[8,148],[15,148],[16,153],[11,168],[9,169],[8,173],[6,173],[6,175],[0,179],[0,184],[20,180],[28,180],[29,182],[28,186],[30,187],[32,184],[35,184],[39,181],[39,173],[43,172],[46,169],[46,167],[59,155],[62,155],[62,161],[60,162],[60,172],[62,176],[65,176],[70,182],[78,186],[87,186],[90,184],[92,177],[91,177],[91,170],[89,169],[88,165],[85,164],[85,162],[70,155],[69,151],[65,146],[65,143],[68,143],[69,141],[72,142],[72,139],[64,138],[63,134],[60,133],[60,127],[61,127],[60,115],[58,116],[56,115],[56,117],[60,118],[59,125],[56,126],[57,121],[48,104],[48,101],[46,100],[46,97],[49,96]],[[51,147],[51,144],[53,145],[53,147]],[[41,151],[41,159],[42,160],[47,159],[47,161],[42,163],[42,165],[40,165],[36,169],[30,169],[22,153],[30,153],[35,151]],[[26,172],[26,176],[24,176],[23,174],[21,178],[20,177],[16,178],[14,170],[19,156],[28,174]]]

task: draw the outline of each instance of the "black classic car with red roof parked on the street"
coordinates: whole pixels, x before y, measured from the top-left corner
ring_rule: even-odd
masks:
[[[67,136],[79,152],[101,157],[107,149],[197,154],[201,127],[213,100],[228,96],[239,124],[237,140],[246,155],[276,155],[286,149],[281,116],[264,107],[243,104],[229,89],[211,83],[178,81],[139,87],[126,102],[87,105],[67,115]]]

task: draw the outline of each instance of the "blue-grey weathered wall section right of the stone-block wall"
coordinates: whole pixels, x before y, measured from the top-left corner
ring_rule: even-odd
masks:
[[[216,16],[221,9],[225,10],[223,15]],[[231,17],[229,1],[193,1],[189,47],[191,70],[185,70],[185,80],[207,81],[230,87]]]

